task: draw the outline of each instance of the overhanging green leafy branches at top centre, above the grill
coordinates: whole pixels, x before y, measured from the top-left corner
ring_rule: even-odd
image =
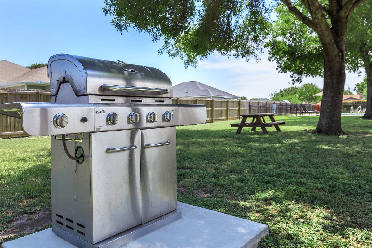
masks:
[[[105,0],[105,15],[122,33],[129,27],[163,40],[159,54],[179,56],[187,66],[213,52],[259,59],[269,34],[270,6],[264,0]]]

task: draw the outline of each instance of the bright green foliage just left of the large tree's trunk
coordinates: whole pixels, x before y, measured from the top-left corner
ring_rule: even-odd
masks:
[[[301,3],[296,6],[306,12]],[[275,61],[280,73],[291,73],[292,83],[303,77],[323,76],[323,48],[316,32],[288,12],[284,4],[275,8],[277,20],[272,24],[272,38],[265,44],[269,61]]]

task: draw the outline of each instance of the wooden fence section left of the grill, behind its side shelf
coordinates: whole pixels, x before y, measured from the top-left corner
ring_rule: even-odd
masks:
[[[40,90],[0,89],[0,103],[13,102],[50,102],[50,92]],[[0,138],[28,136],[23,131],[20,119],[0,115]]]

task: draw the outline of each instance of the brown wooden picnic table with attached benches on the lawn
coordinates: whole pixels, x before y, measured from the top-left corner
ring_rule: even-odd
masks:
[[[241,130],[245,127],[251,127],[251,131],[256,131],[256,128],[261,128],[263,133],[268,133],[266,128],[275,127],[276,131],[280,131],[279,125],[284,125],[285,121],[275,121],[274,113],[263,113],[263,114],[249,114],[249,115],[240,115],[243,117],[240,123],[232,123],[231,127],[237,127],[238,130],[236,133],[240,133]],[[265,116],[270,118],[270,122],[266,122]],[[251,122],[246,122],[248,117],[253,117]]]

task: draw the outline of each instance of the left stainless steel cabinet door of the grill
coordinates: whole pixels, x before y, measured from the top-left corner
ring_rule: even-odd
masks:
[[[91,135],[93,244],[141,224],[139,146],[138,129]]]

